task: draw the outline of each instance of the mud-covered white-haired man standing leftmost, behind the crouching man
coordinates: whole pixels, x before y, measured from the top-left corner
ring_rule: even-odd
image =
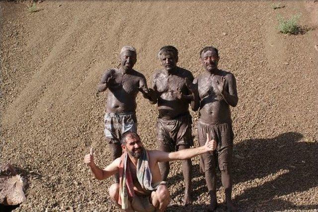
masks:
[[[137,61],[136,49],[125,46],[121,49],[119,68],[108,69],[101,77],[97,93],[109,90],[104,117],[104,133],[112,150],[113,159],[122,154],[120,146],[124,132],[137,132],[136,97],[140,91],[147,99],[150,98],[146,78],[134,70]],[[118,176],[115,176],[118,182]]]

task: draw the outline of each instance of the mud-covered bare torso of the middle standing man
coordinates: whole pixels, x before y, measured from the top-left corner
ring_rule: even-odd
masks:
[[[188,112],[189,101],[178,99],[176,94],[178,90],[184,95],[188,95],[189,91],[185,85],[185,78],[193,80],[190,71],[177,67],[177,69],[168,74],[165,70],[159,70],[154,76],[157,91],[160,96],[158,98],[159,117],[164,119],[173,119],[181,114]]]

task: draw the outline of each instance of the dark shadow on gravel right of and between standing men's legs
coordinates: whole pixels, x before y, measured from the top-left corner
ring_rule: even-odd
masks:
[[[245,159],[234,158],[233,184],[234,201],[241,211],[246,210],[311,210],[318,204],[308,205],[309,197],[304,197],[303,205],[296,206],[284,198],[318,186],[318,143],[303,140],[303,135],[288,132],[268,139],[249,139],[236,144],[235,154]],[[201,176],[199,165],[193,168],[193,178]],[[218,177],[220,178],[220,176]],[[168,178],[168,182],[183,180],[182,173]],[[218,179],[218,187],[221,182]],[[194,200],[207,192],[205,180],[193,182]],[[196,189],[200,188],[200,189]],[[171,192],[171,197],[182,194],[183,190]],[[314,201],[312,201],[314,202]],[[224,207],[221,207],[224,208]],[[170,206],[168,211],[202,211],[203,206]]]

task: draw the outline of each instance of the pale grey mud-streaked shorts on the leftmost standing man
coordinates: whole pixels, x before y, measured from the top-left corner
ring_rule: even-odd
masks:
[[[104,133],[109,143],[120,143],[121,136],[127,131],[137,132],[136,113],[106,113]]]

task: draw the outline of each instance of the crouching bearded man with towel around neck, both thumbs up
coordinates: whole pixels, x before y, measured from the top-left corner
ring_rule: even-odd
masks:
[[[190,159],[214,151],[216,146],[215,140],[207,140],[202,147],[178,152],[150,151],[144,148],[136,132],[128,131],[122,135],[123,155],[106,168],[100,169],[95,165],[92,151],[84,157],[84,162],[98,180],[119,173],[119,183],[110,186],[109,195],[121,209],[132,212],[164,211],[170,202],[170,193],[165,182],[161,181],[158,162]]]

